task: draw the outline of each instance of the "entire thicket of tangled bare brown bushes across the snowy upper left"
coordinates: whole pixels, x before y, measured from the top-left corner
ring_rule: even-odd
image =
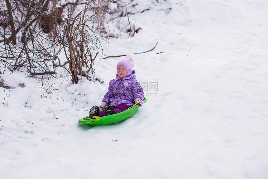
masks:
[[[98,36],[134,36],[139,28],[127,10],[134,6],[131,0],[0,0],[0,70],[43,78],[63,67],[74,83],[79,75],[94,80],[94,60],[102,53]]]

